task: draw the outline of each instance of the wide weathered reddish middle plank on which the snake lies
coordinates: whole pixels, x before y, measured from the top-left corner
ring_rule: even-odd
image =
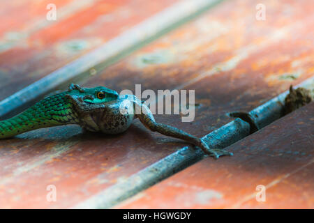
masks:
[[[181,123],[181,117],[174,115],[157,116],[157,121],[199,137],[207,134],[230,121],[226,112],[250,111],[290,84],[313,76],[314,33],[308,29],[314,25],[312,3],[266,1],[266,21],[255,20],[257,3],[220,3],[83,84],[117,91],[134,90],[135,84],[142,84],[142,91],[195,89],[199,106],[194,122]],[[138,121],[117,136],[66,126],[3,140],[0,205],[75,206],[184,145],[149,132]],[[221,160],[240,161],[239,155]],[[46,200],[47,185],[57,187],[57,202]]]

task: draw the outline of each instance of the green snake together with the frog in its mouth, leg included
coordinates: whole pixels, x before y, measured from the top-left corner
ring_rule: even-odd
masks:
[[[140,109],[140,114],[135,112],[136,109]],[[135,95],[119,95],[103,86],[82,88],[77,84],[70,84],[68,91],[47,97],[21,114],[0,121],[0,139],[68,124],[80,125],[91,132],[118,134],[126,131],[135,118],[149,130],[188,141],[213,157],[232,155],[223,149],[209,148],[203,139],[187,132],[157,123],[149,107]]]

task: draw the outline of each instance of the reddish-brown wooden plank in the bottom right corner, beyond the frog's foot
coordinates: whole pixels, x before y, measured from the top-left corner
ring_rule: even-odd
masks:
[[[232,159],[204,159],[116,208],[313,208],[313,112],[312,102],[229,146]]]

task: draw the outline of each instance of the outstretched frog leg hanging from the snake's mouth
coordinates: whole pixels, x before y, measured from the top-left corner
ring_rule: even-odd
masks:
[[[174,138],[188,141],[191,144],[194,144],[195,146],[200,147],[202,151],[204,151],[204,153],[206,153],[207,155],[213,156],[216,159],[222,155],[232,155],[232,153],[225,151],[223,149],[220,149],[220,148],[209,148],[209,146],[206,144],[206,142],[202,138],[197,138],[193,136],[192,134],[188,134],[187,132],[184,132],[183,130],[174,128],[171,125],[157,123],[154,119],[153,114],[151,114],[149,107],[147,107],[147,105],[144,105],[142,103],[135,103],[135,107],[136,106],[140,106],[142,108],[141,114],[136,114],[136,117],[139,118],[140,121],[143,123],[143,125],[149,130],[151,130],[152,132],[159,132],[169,137],[174,137]]]

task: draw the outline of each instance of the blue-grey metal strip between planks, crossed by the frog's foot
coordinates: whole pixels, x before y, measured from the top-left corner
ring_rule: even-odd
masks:
[[[297,87],[304,87],[313,91],[314,77],[307,79]],[[281,118],[287,93],[289,93],[289,91],[281,93],[276,98],[269,100],[248,113],[253,117],[253,121],[259,128],[263,128],[276,121],[278,118]],[[234,121],[207,134],[203,139],[207,141],[211,148],[225,148],[247,137],[250,134],[250,128],[251,125],[248,122],[243,121],[241,118],[236,118]],[[181,169],[202,160],[203,157],[205,157],[205,155],[199,148],[193,149],[185,146],[179,151],[151,164],[149,167],[139,171],[137,174],[133,174],[123,182],[117,183],[99,192],[73,208],[111,208],[119,202],[158,183],[160,180],[172,176]]]

